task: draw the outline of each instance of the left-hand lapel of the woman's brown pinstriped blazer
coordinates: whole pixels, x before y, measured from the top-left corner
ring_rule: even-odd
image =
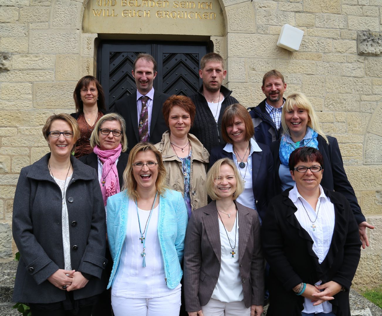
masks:
[[[221,263],[222,251],[220,244],[219,220],[217,218],[216,202],[212,201],[210,204],[208,204],[204,212],[206,214],[202,217],[204,229],[206,229],[206,234],[211,247],[214,250],[217,259],[219,260],[219,263]]]

